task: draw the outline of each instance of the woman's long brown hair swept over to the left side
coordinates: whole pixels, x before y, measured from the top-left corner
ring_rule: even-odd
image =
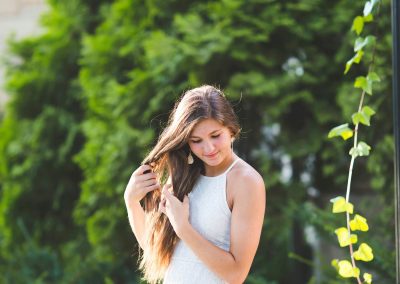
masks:
[[[240,133],[237,117],[223,92],[204,85],[185,92],[177,101],[157,144],[143,161],[152,166],[161,184],[170,179],[173,193],[181,201],[204,171],[203,162],[194,155],[194,163],[188,165],[188,139],[195,125],[207,118],[228,127],[233,137]],[[149,283],[163,278],[178,241],[167,216],[158,212],[160,200],[158,190],[144,198],[146,233],[140,268]]]

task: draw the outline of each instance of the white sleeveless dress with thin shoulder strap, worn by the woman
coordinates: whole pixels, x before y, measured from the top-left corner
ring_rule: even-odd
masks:
[[[189,221],[193,228],[214,245],[229,251],[231,211],[226,201],[226,175],[239,158],[222,174],[215,177],[200,175],[189,193]],[[164,284],[225,283],[212,272],[181,240],[178,241]]]

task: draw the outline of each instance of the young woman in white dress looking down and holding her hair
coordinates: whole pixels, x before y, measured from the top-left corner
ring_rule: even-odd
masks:
[[[257,171],[233,152],[239,132],[220,90],[189,90],[133,172],[124,199],[148,282],[246,279],[260,241],[265,187]]]

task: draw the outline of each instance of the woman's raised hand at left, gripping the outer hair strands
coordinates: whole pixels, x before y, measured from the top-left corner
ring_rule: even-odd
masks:
[[[149,173],[144,173],[150,170]],[[161,188],[156,179],[156,174],[151,172],[149,165],[142,165],[131,175],[124,192],[124,199],[127,205],[140,202],[150,191]]]

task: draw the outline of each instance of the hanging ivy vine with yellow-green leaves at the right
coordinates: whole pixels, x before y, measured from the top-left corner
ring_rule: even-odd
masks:
[[[369,230],[368,221],[365,217],[354,214],[354,217],[350,219],[350,214],[355,213],[354,206],[350,203],[350,190],[351,180],[353,174],[354,161],[357,157],[368,156],[371,151],[369,146],[364,141],[359,141],[358,132],[360,125],[370,126],[371,117],[375,114],[375,111],[367,105],[364,105],[365,95],[373,95],[373,84],[380,81],[377,73],[373,72],[374,56],[376,37],[373,35],[367,35],[362,37],[361,34],[364,30],[364,26],[367,23],[373,22],[375,14],[379,12],[380,0],[370,0],[364,5],[363,14],[356,16],[353,20],[351,30],[354,31],[357,38],[354,41],[354,56],[346,62],[344,74],[347,74],[353,64],[358,64],[364,57],[364,53],[367,47],[372,47],[372,59],[369,63],[368,73],[365,76],[358,76],[354,81],[354,87],[361,90],[361,98],[358,105],[358,110],[351,116],[353,128],[350,128],[348,123],[339,125],[331,129],[328,134],[328,138],[342,137],[344,140],[353,137],[353,147],[350,149],[349,154],[351,156],[349,173],[347,179],[346,197],[338,196],[331,199],[333,203],[333,213],[345,213],[346,214],[346,227],[340,227],[335,230],[339,245],[341,247],[348,247],[350,253],[349,260],[332,260],[332,265],[337,269],[340,276],[344,278],[354,277],[358,284],[372,283],[372,274],[368,272],[363,273],[363,281],[360,278],[360,269],[357,267],[356,261],[372,261],[374,254],[372,248],[366,243],[361,242],[357,250],[354,250],[353,245],[359,242],[358,235],[354,232],[366,232]]]

